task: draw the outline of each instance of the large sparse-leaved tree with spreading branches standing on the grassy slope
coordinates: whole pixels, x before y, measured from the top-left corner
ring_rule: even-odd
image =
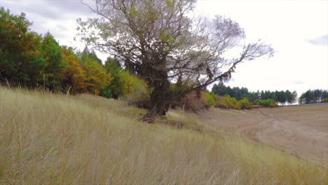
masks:
[[[184,93],[202,90],[231,78],[241,62],[273,54],[261,41],[243,44],[245,32],[228,18],[190,18],[195,6],[196,0],[97,0],[89,6],[97,18],[78,20],[83,41],[116,57],[153,89],[145,120],[168,111],[170,83],[188,81]],[[226,57],[231,49],[240,55]]]

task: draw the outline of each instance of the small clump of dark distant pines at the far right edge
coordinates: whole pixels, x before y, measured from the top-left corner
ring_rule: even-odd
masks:
[[[307,90],[299,97],[299,104],[328,102],[328,90]]]

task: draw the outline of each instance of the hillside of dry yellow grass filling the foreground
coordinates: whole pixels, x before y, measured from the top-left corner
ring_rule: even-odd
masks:
[[[141,114],[101,97],[0,87],[0,184],[328,184],[327,168],[185,114],[161,124]]]

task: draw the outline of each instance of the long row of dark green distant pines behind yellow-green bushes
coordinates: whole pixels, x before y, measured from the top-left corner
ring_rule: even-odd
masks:
[[[260,92],[258,90],[257,92],[250,92],[247,88],[226,87],[223,83],[214,84],[212,87],[212,93],[219,96],[230,95],[231,97],[235,97],[236,100],[242,100],[242,98],[246,97],[250,102],[258,102],[259,100],[273,100],[280,104],[293,104],[297,102],[296,91],[262,90]]]

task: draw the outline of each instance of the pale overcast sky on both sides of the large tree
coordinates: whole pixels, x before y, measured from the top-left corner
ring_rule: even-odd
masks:
[[[74,41],[76,18],[94,15],[79,0],[0,0],[0,6],[26,13],[34,22],[33,31],[49,31],[60,45],[80,49],[84,44]],[[268,60],[240,64],[227,85],[252,91],[296,90],[299,95],[328,89],[328,0],[200,0],[196,13],[225,15],[245,29],[247,39],[262,39],[275,50]]]

